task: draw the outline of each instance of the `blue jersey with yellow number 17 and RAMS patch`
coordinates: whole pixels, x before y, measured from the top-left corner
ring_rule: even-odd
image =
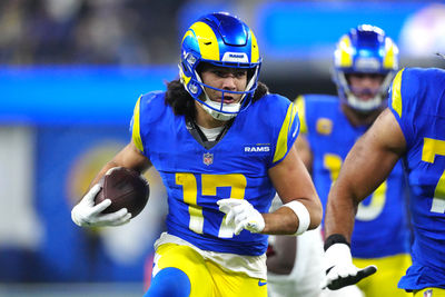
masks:
[[[267,212],[275,196],[268,169],[288,154],[299,131],[297,109],[288,99],[266,95],[240,112],[210,149],[176,116],[164,92],[141,96],[132,118],[132,140],[159,171],[167,188],[167,230],[204,250],[258,256],[267,236],[238,236],[216,204],[247,199]]]

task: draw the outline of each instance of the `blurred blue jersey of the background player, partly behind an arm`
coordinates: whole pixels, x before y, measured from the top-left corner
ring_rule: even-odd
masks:
[[[354,127],[337,97],[306,95],[297,99],[301,132],[313,152],[313,179],[324,208],[333,181],[355,141],[368,127]],[[404,176],[397,164],[386,181],[358,206],[350,250],[356,258],[378,258],[407,253]]]

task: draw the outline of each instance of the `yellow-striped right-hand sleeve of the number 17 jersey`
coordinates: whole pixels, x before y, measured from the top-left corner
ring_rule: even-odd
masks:
[[[287,100],[287,99],[286,99]],[[273,166],[277,165],[281,160],[284,160],[293,147],[295,140],[298,137],[299,132],[299,119],[297,106],[295,102],[290,102],[287,106],[286,113],[284,118],[281,117],[278,137],[276,138],[275,152],[273,159]]]

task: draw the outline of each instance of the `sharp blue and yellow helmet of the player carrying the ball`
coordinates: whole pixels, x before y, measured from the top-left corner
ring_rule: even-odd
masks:
[[[206,62],[217,67],[247,69],[244,91],[228,91],[202,83],[198,67]],[[190,26],[182,38],[179,78],[190,96],[215,119],[229,120],[246,109],[257,88],[261,66],[257,40],[245,22],[227,12],[210,13]],[[221,102],[211,101],[206,88],[222,92]],[[237,103],[225,103],[225,93],[241,93]]]

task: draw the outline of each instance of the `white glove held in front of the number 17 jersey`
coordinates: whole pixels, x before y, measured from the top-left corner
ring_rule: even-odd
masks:
[[[239,235],[243,229],[257,234],[265,228],[263,215],[245,199],[220,199],[217,205],[227,215],[227,225],[235,225],[235,235]]]

